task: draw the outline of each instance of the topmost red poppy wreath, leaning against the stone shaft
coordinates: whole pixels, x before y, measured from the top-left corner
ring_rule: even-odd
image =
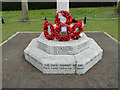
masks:
[[[64,16],[67,20],[66,20],[66,22],[65,22],[65,24],[68,24],[68,25],[70,25],[71,23],[72,23],[72,16],[71,16],[71,14],[69,13],[69,12],[67,12],[67,11],[64,11],[64,10],[62,10],[62,11],[59,11],[57,14],[56,14],[56,16],[55,16],[55,24],[56,25],[60,25],[62,22],[60,21],[60,18],[58,17],[59,16],[59,13],[61,13],[62,14],[62,16]]]

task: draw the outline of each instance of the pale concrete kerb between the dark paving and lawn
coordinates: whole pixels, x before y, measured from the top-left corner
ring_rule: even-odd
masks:
[[[85,31],[85,32],[88,32],[88,33],[104,33],[106,34],[108,37],[110,37],[112,40],[114,40],[115,42],[117,42],[118,44],[120,44],[120,42],[118,40],[116,40],[115,38],[113,38],[111,35],[109,35],[107,32],[104,32],[104,31]],[[12,39],[13,37],[15,37],[17,34],[20,34],[20,33],[41,33],[41,32],[30,32],[30,31],[24,31],[24,32],[16,32],[15,34],[13,34],[11,37],[9,37],[7,40],[5,40],[4,42],[2,42],[0,44],[0,47],[2,45],[4,45],[5,43],[7,43],[10,39]]]

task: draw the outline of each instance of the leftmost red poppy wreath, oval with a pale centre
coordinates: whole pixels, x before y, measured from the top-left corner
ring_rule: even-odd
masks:
[[[47,20],[44,21],[43,24],[44,24],[43,31],[44,31],[45,37],[46,37],[48,40],[53,40],[53,39],[55,38],[54,26],[53,26],[51,23],[47,22]],[[50,25],[51,34],[48,33],[48,25]]]

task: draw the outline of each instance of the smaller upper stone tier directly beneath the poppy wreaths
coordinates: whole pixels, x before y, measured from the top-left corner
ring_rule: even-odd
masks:
[[[83,33],[79,40],[60,42],[47,40],[42,33],[38,38],[39,48],[52,55],[75,55],[89,47],[89,38]]]

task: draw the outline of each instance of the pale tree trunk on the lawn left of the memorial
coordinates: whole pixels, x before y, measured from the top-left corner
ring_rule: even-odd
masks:
[[[21,6],[22,6],[22,21],[28,21],[29,20],[28,0],[22,0]]]

